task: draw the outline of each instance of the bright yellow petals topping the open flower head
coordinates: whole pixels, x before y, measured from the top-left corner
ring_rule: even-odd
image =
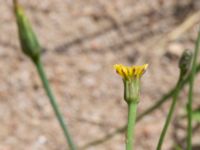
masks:
[[[148,64],[142,66],[124,66],[122,64],[114,65],[116,72],[125,80],[140,79],[145,73]]]

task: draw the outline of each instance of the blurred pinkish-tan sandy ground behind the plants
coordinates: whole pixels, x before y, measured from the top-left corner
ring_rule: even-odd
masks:
[[[113,65],[149,64],[138,113],[176,83],[180,55],[194,48],[199,0],[19,0],[41,45],[42,60],[71,134],[79,147],[126,123],[123,83]],[[0,1],[0,150],[65,150],[66,143],[41,81],[22,54],[11,0]],[[194,107],[200,107],[196,79]],[[184,144],[187,87],[163,150]],[[170,101],[136,125],[136,149],[154,150]],[[176,131],[176,132],[175,132]],[[200,149],[195,131],[193,144]],[[122,150],[115,134],[87,150]]]

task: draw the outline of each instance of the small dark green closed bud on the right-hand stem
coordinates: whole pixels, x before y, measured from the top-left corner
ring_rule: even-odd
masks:
[[[191,70],[192,52],[185,50],[179,61],[180,74],[185,78]]]

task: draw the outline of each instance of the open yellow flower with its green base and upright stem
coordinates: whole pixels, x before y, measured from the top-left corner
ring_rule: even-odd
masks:
[[[116,64],[113,67],[115,68],[116,72],[123,78],[124,100],[128,104],[126,150],[132,150],[137,105],[140,98],[140,78],[145,73],[148,64],[144,64],[142,66],[124,66],[122,64]]]

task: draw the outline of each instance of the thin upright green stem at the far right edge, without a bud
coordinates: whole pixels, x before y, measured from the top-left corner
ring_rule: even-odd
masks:
[[[187,112],[188,112],[188,128],[187,128],[187,150],[192,149],[192,102],[193,102],[193,87],[194,87],[194,78],[196,73],[196,62],[197,56],[199,53],[199,45],[200,45],[200,31],[198,33],[195,52],[192,62],[192,70],[189,81],[189,94],[188,94],[188,104],[187,104]]]

